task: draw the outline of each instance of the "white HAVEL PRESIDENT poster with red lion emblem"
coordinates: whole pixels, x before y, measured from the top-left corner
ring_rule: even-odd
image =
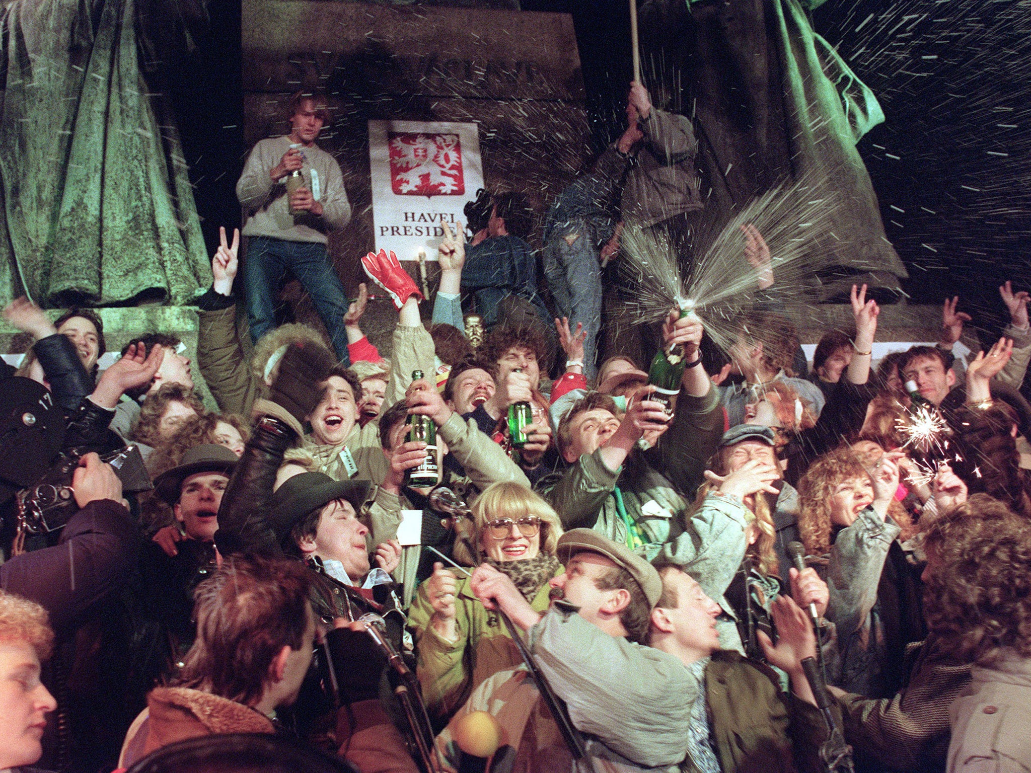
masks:
[[[370,121],[369,162],[376,249],[435,261],[440,224],[464,225],[462,208],[484,187],[477,125]]]

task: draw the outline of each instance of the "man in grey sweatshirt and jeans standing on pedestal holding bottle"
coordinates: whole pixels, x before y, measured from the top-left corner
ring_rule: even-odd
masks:
[[[337,357],[346,365],[347,296],[326,245],[330,231],[347,225],[351,204],[336,159],[315,144],[328,117],[321,97],[295,94],[290,100],[290,134],[255,145],[236,196],[248,210],[243,290],[252,340],[275,327],[276,300],[289,272],[311,296]]]

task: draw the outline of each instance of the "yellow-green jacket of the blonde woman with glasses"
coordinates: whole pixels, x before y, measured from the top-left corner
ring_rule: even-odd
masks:
[[[564,570],[559,569],[557,574]],[[543,612],[551,587],[545,582],[531,606]],[[459,575],[455,594],[454,642],[446,641],[430,626],[433,605],[420,586],[408,609],[408,628],[415,639],[419,660],[415,673],[430,713],[441,719],[454,714],[485,680],[523,662],[505,625],[488,611],[469,590],[469,578]]]

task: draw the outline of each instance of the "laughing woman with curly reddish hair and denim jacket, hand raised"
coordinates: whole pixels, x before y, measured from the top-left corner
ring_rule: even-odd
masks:
[[[852,448],[818,459],[799,482],[798,531],[830,592],[827,617],[837,629],[837,668],[828,674],[850,693],[894,695],[906,644],[926,630],[921,585],[898,538],[911,527],[895,500],[897,451],[870,469]]]

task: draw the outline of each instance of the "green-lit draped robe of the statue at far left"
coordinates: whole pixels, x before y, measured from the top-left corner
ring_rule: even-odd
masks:
[[[188,303],[210,269],[133,0],[14,0],[2,28],[0,297]]]

